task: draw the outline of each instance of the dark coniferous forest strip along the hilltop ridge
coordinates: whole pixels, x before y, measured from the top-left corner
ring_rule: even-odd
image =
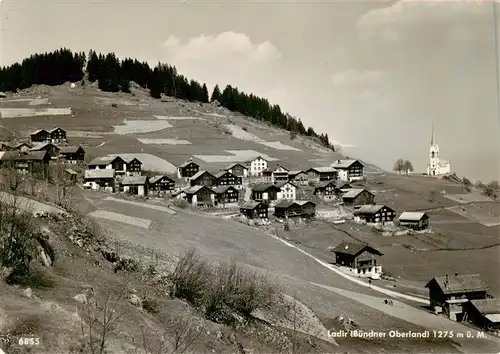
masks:
[[[32,85],[61,85],[84,79],[85,71],[90,82],[98,82],[99,89],[108,92],[130,93],[130,82],[148,89],[151,96],[160,98],[161,94],[198,102],[218,101],[221,106],[239,112],[275,127],[296,134],[318,138],[323,146],[334,150],[328,134],[317,134],[313,128],[306,129],[300,119],[281,110],[279,105],[271,104],[267,99],[247,94],[236,87],[227,85],[223,90],[215,86],[209,96],[207,86],[195,80],[189,80],[179,74],[175,66],[158,63],[152,68],[146,62],[126,58],[120,60],[114,53],[101,54],[90,50],[85,53],[73,53],[71,50],[59,50],[34,54],[15,63],[0,68],[0,91],[22,90]]]

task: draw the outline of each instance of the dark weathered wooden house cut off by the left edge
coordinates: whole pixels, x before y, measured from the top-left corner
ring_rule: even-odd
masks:
[[[19,151],[0,152],[0,166],[14,168],[21,173],[33,173],[48,176],[50,155],[47,151]]]

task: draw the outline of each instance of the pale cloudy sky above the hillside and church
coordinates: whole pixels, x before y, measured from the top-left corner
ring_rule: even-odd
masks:
[[[0,65],[62,46],[167,62],[385,169],[425,171],[434,121],[453,172],[500,179],[492,2],[0,1]]]

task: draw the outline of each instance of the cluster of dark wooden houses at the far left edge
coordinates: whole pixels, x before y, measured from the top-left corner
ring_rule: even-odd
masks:
[[[0,166],[46,175],[53,160],[82,164],[85,150],[69,146],[66,131],[60,127],[37,130],[30,134],[29,141],[0,142]]]

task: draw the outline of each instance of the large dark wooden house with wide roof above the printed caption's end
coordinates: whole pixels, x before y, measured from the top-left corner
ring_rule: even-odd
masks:
[[[431,309],[453,321],[462,321],[463,305],[469,300],[484,300],[489,286],[479,274],[458,274],[434,277],[425,286],[429,289]]]

